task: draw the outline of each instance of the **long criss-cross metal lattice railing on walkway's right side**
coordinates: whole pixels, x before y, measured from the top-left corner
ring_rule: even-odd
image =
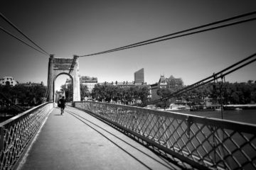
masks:
[[[100,102],[75,102],[196,169],[256,169],[256,126]]]

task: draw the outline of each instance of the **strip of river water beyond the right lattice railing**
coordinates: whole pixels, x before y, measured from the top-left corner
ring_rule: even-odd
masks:
[[[174,111],[174,112],[221,119],[221,111]],[[242,123],[252,123],[256,125],[256,109],[223,111],[223,119],[238,121]]]

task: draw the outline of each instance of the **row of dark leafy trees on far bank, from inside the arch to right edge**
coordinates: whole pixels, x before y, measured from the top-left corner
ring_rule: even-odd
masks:
[[[82,86],[80,86],[82,88]],[[73,100],[73,88],[72,85],[68,85],[65,89],[65,96],[70,101]],[[169,96],[178,89],[159,89],[157,95],[164,97]],[[88,96],[84,89],[81,89],[81,98]],[[132,86],[129,88],[121,88],[119,86],[111,85],[95,85],[95,88],[90,94],[96,101],[122,101],[122,103],[129,103],[130,101],[142,101],[146,103],[148,100],[149,89],[146,86]],[[210,101],[212,103],[220,103],[220,96],[224,104],[248,104],[256,103],[256,82],[247,81],[247,83],[229,83],[223,84],[209,83],[204,86],[200,86],[197,89],[181,94],[174,98],[175,101],[187,101],[191,104],[200,104]],[[158,103],[159,106],[169,106],[171,100]]]

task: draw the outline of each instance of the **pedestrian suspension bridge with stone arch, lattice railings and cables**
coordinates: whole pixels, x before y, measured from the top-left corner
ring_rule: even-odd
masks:
[[[213,28],[206,30],[210,29]],[[176,35],[169,38],[172,39],[190,34],[193,33],[168,36]],[[92,55],[146,45],[152,40]],[[75,55],[73,59],[50,55],[48,101],[0,124],[0,169],[256,169],[255,125],[80,101],[78,58],[86,56],[90,55]],[[210,81],[219,79],[223,83],[226,75],[255,62],[255,56],[150,103],[167,100]],[[73,103],[63,115],[56,108],[54,95],[55,79],[61,74],[73,81]]]

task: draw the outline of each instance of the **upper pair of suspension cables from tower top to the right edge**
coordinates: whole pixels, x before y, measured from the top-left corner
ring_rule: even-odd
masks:
[[[119,51],[119,50],[125,50],[125,49],[129,49],[129,48],[132,48],[132,47],[139,47],[139,46],[142,46],[142,45],[148,45],[148,44],[155,43],[155,42],[160,42],[160,41],[164,41],[164,40],[170,40],[170,39],[173,39],[173,38],[178,38],[178,37],[182,37],[182,36],[186,36],[186,35],[191,35],[191,34],[195,34],[195,33],[201,33],[201,32],[207,31],[207,30],[213,30],[213,29],[217,29],[217,28],[223,28],[223,27],[226,27],[226,26],[232,26],[232,25],[235,25],[235,24],[238,24],[238,23],[244,23],[244,22],[248,22],[248,21],[253,21],[253,20],[255,20],[255,18],[251,18],[251,19],[245,20],[245,21],[238,21],[238,22],[235,22],[235,23],[226,24],[224,26],[218,26],[218,27],[215,27],[215,28],[208,28],[206,30],[196,31],[196,32],[193,32],[193,33],[179,35],[179,36],[172,37],[172,38],[166,38],[166,37],[170,37],[172,35],[177,35],[177,34],[180,34],[180,33],[186,33],[186,32],[191,31],[191,30],[197,30],[199,28],[205,28],[205,27],[208,27],[208,26],[213,26],[213,25],[216,25],[218,23],[223,23],[223,22],[226,22],[226,21],[231,21],[231,20],[234,20],[234,19],[237,19],[237,18],[242,18],[242,17],[245,17],[245,16],[251,16],[251,15],[254,15],[255,13],[256,13],[256,11],[253,11],[253,12],[245,13],[245,14],[242,14],[242,15],[239,15],[239,16],[234,16],[234,17],[226,18],[226,19],[223,19],[223,20],[220,20],[220,21],[215,21],[213,23],[208,23],[208,24],[205,24],[203,26],[197,26],[197,27],[194,27],[194,28],[189,28],[189,29],[186,29],[186,30],[178,31],[176,33],[171,33],[169,35],[163,35],[163,36],[158,37],[158,38],[152,38],[152,39],[149,39],[149,40],[144,40],[142,42],[137,42],[137,43],[134,43],[134,44],[131,44],[131,45],[125,45],[123,47],[117,47],[117,48],[114,48],[112,50],[106,50],[106,51],[103,51],[103,52],[97,52],[97,53],[93,53],[93,54],[90,54],[90,55],[81,55],[79,57],[88,57],[88,56],[92,56],[92,55],[101,55],[101,54],[105,54],[105,53],[108,53],[108,52],[115,52],[115,51]],[[159,40],[161,38],[165,38],[165,39]]]

